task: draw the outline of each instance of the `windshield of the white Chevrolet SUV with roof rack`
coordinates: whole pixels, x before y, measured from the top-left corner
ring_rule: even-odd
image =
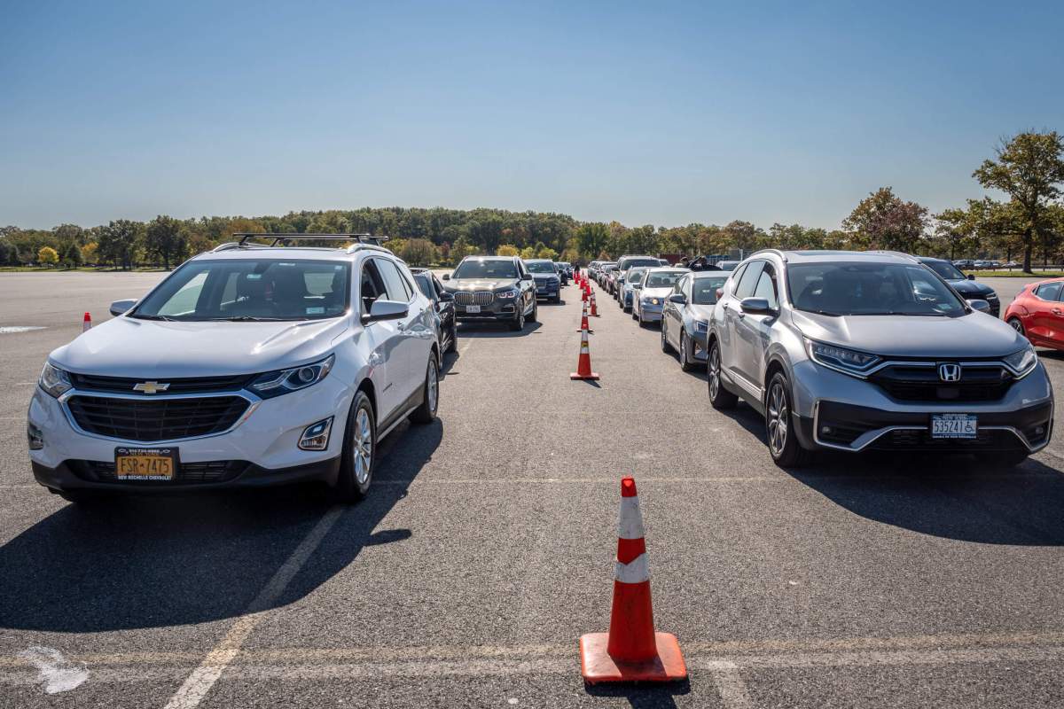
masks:
[[[334,260],[189,261],[130,314],[144,320],[319,320],[347,310],[348,264]]]

